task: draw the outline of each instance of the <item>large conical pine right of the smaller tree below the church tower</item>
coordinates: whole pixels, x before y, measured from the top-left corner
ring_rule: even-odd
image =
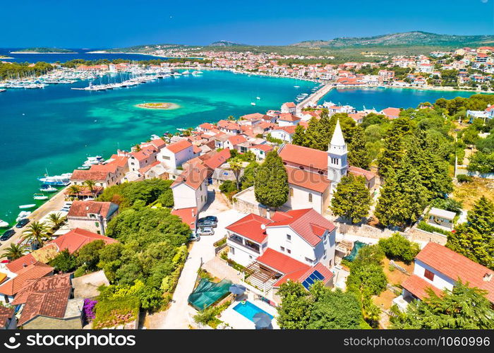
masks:
[[[405,158],[399,169],[390,169],[382,186],[375,216],[382,225],[404,227],[418,220],[426,203],[426,190],[414,165]]]

